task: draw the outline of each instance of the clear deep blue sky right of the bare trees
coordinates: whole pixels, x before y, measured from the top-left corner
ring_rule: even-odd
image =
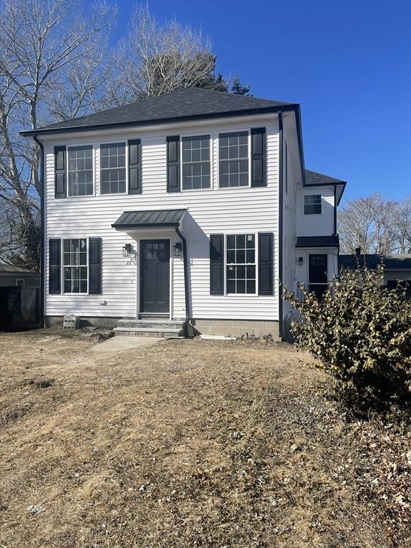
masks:
[[[217,70],[257,97],[300,103],[305,165],[345,200],[411,194],[411,1],[150,0],[210,36]],[[113,40],[133,2],[118,1]]]

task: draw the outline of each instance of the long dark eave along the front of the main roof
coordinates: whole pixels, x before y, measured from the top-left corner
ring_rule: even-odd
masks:
[[[253,114],[265,114],[265,113],[277,113],[279,111],[298,111],[298,118],[300,116],[300,106],[298,104],[290,103],[290,105],[270,106],[262,108],[247,108],[238,111],[225,111],[217,113],[207,114],[194,114],[191,116],[174,116],[171,118],[158,118],[156,120],[143,120],[143,121],[126,121],[126,122],[113,122],[113,123],[99,123],[89,124],[87,126],[67,126],[64,128],[39,128],[28,129],[20,131],[20,135],[29,137],[33,135],[47,135],[55,133],[71,133],[73,131],[92,131],[111,128],[129,128],[138,126],[158,126],[163,123],[176,123],[193,120],[213,120],[215,118],[232,118],[233,116],[252,116]]]

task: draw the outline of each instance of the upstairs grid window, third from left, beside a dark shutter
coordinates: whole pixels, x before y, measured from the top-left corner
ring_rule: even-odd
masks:
[[[183,191],[210,188],[210,136],[182,138]]]

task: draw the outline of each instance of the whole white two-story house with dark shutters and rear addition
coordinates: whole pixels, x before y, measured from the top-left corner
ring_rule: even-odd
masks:
[[[46,325],[282,336],[281,283],[338,272],[345,183],[305,170],[298,104],[190,88],[21,133],[44,158]]]

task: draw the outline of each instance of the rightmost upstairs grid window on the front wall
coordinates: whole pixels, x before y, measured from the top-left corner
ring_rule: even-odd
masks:
[[[248,186],[248,131],[218,136],[220,188]]]

